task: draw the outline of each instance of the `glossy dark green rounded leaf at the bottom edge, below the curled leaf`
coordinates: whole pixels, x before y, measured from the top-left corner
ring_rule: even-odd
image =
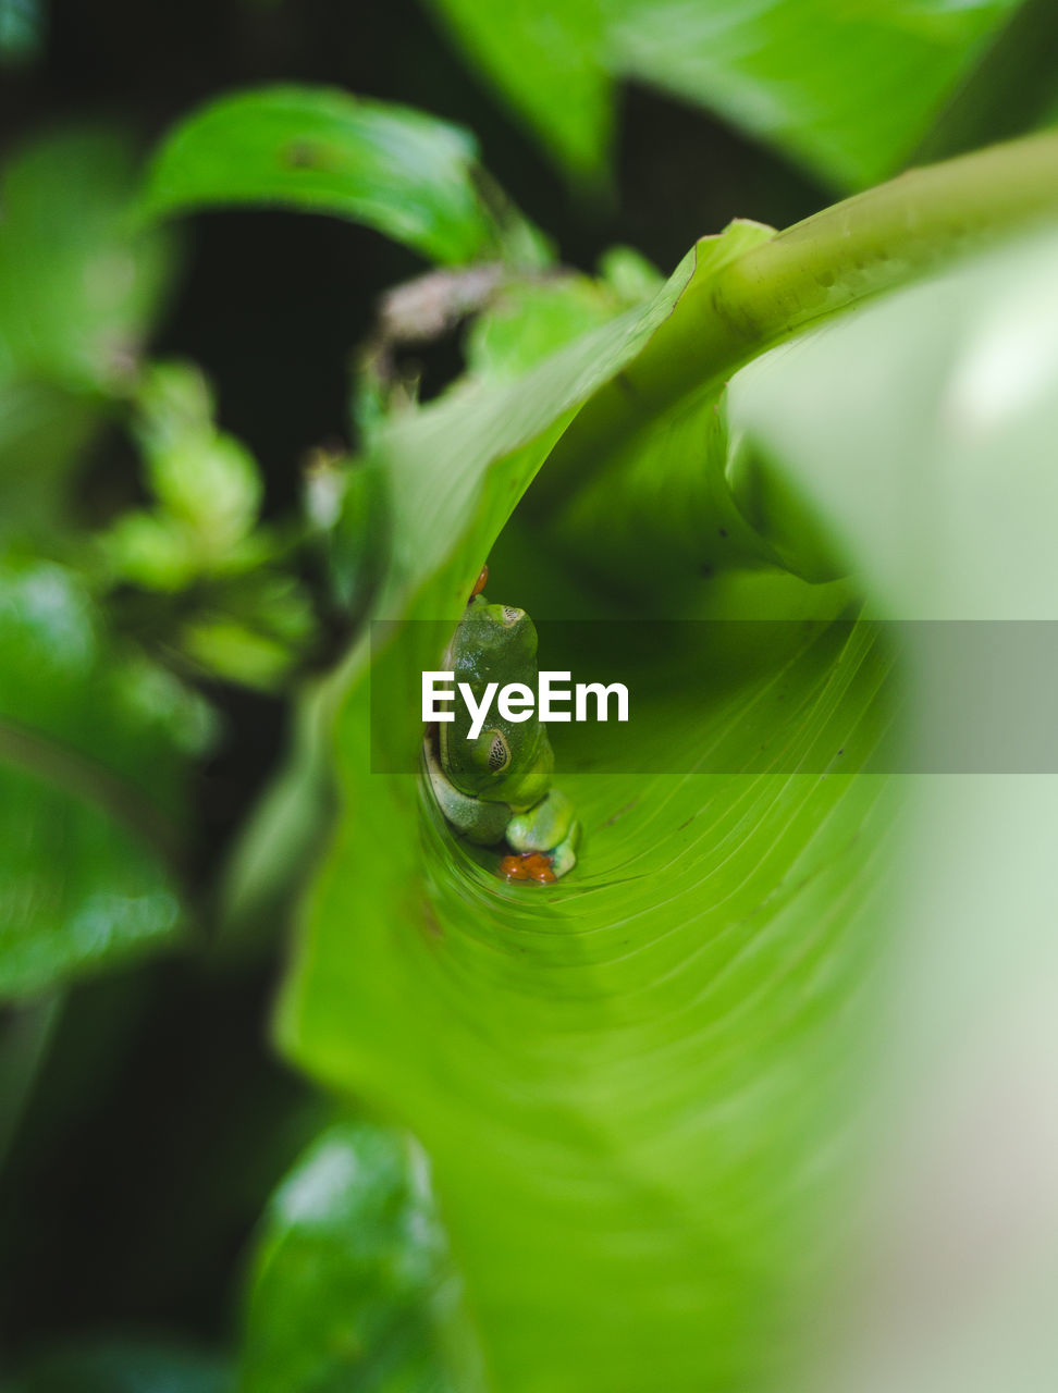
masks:
[[[454,1293],[424,1167],[368,1123],[329,1127],[300,1158],[258,1237],[245,1393],[450,1386],[439,1328]]]

